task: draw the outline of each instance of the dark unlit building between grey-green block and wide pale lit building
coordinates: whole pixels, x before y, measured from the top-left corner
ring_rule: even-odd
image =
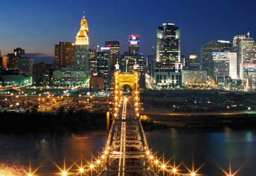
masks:
[[[44,85],[43,78],[46,77],[44,72],[46,72],[46,63],[45,62],[41,62],[41,63],[33,65],[32,83],[34,85]]]

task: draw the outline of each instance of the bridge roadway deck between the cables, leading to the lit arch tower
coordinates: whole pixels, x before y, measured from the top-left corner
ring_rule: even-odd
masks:
[[[156,175],[132,97],[121,98],[106,145],[105,163],[98,175]]]

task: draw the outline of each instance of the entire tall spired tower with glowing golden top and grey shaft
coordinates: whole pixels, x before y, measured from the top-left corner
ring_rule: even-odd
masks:
[[[75,62],[77,71],[84,71],[86,79],[89,79],[89,29],[85,16],[82,16],[80,31],[76,36]],[[89,84],[88,84],[89,85]]]

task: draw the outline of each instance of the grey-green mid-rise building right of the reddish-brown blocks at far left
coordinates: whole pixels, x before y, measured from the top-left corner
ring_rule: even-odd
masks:
[[[32,68],[34,64],[34,59],[31,57],[26,57],[26,55],[20,55],[18,59],[18,71],[20,75],[24,75],[28,78],[28,81],[32,82]]]

